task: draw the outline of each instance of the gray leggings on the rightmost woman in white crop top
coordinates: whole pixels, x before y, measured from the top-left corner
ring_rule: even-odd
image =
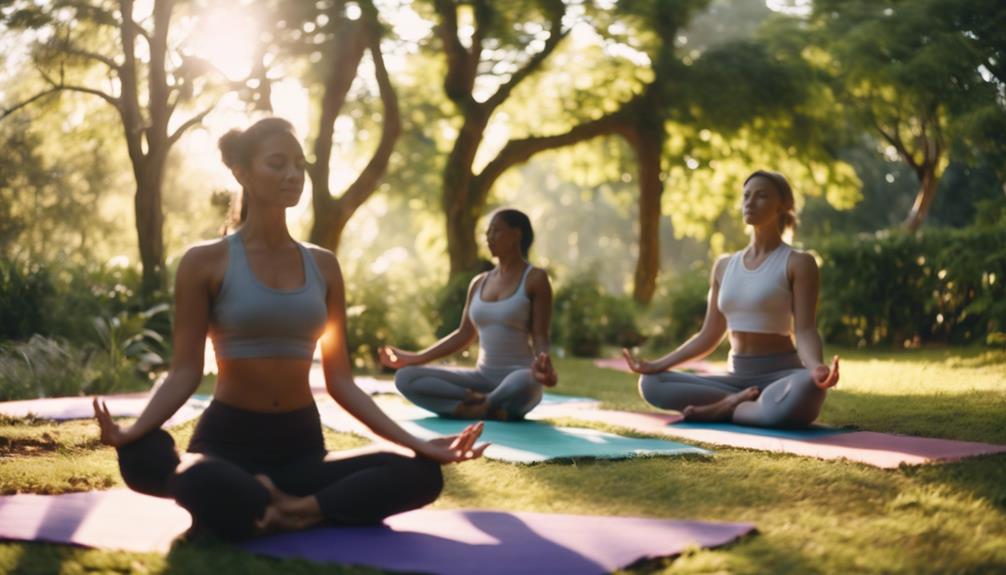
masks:
[[[730,354],[725,375],[668,371],[639,378],[643,399],[662,409],[714,403],[748,387],[761,390],[756,401],[733,411],[734,423],[760,427],[809,425],[821,412],[826,391],[814,384],[796,353],[773,356]]]

